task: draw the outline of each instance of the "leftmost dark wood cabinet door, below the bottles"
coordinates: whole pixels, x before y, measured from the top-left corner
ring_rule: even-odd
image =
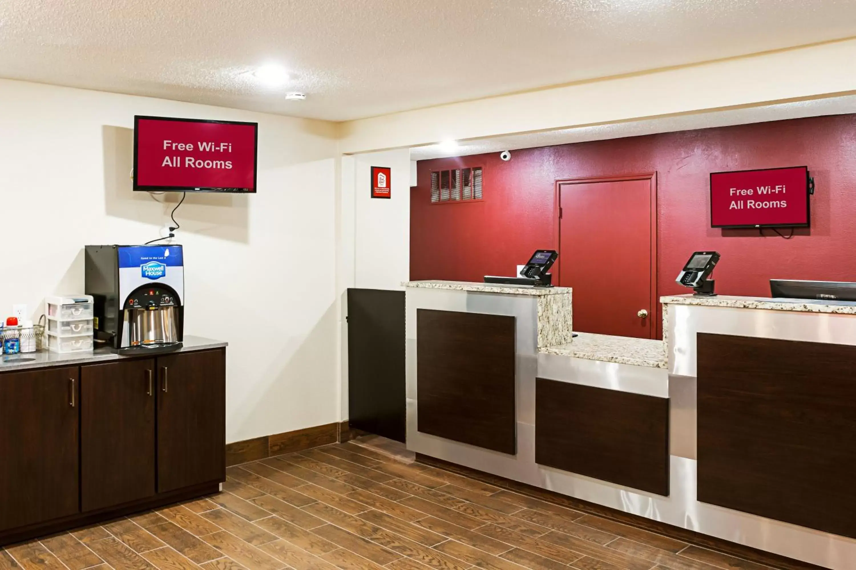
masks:
[[[80,512],[79,368],[3,374],[0,531]]]

